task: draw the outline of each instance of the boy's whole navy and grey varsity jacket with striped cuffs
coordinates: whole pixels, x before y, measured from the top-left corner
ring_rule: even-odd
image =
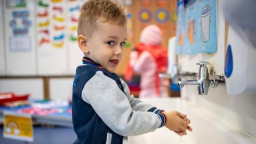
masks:
[[[73,84],[74,143],[123,143],[123,138],[155,131],[165,116],[130,95],[127,84],[90,58],[83,58]]]

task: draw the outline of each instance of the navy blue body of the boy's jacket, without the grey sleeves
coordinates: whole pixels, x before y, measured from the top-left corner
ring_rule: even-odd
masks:
[[[115,73],[110,73],[106,69],[97,66],[84,65],[76,69],[76,76],[73,84],[72,117],[77,140],[74,143],[106,143],[107,133],[112,134],[111,144],[123,142],[123,136],[112,131],[102,119],[95,113],[89,103],[82,99],[84,85],[97,71],[102,71],[104,75],[114,79],[119,89],[124,92],[120,78]]]

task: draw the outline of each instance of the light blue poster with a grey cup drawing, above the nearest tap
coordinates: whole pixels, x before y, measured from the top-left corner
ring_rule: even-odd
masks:
[[[197,52],[214,53],[217,52],[217,1],[199,0],[199,11],[197,11]]]

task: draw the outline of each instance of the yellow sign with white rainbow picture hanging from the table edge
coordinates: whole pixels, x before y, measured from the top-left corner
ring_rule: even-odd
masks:
[[[4,111],[4,138],[33,141],[31,115]]]

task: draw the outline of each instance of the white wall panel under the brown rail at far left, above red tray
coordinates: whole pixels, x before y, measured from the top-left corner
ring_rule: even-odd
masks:
[[[2,78],[0,79],[0,93],[14,92],[15,94],[30,93],[31,99],[43,99],[42,78]]]

